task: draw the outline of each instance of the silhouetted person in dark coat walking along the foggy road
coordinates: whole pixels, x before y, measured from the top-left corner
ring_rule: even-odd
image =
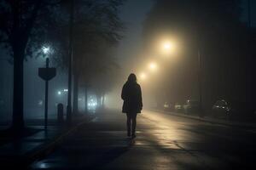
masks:
[[[135,74],[131,73],[128,77],[121,96],[124,100],[123,113],[127,116],[127,136],[135,138],[137,113],[141,113],[143,109],[142,90]]]

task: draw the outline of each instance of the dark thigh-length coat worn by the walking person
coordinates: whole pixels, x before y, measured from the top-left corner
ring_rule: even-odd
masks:
[[[125,82],[122,89],[123,113],[140,113],[143,109],[142,89],[137,82]]]

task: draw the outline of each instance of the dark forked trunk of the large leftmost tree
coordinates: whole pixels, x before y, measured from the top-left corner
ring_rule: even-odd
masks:
[[[31,16],[24,20],[25,27],[22,28],[22,2],[15,1],[11,7],[13,13],[13,26],[10,34],[10,42],[14,53],[14,93],[13,93],[13,122],[12,127],[15,130],[22,130],[24,128],[23,117],[23,61],[26,54],[26,45],[30,37],[30,33],[33,28],[33,24],[38,16],[39,8],[42,1],[37,1],[34,8],[31,11]]]

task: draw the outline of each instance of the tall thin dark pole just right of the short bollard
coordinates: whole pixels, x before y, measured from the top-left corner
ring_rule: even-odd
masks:
[[[69,47],[68,47],[68,92],[67,92],[67,123],[72,122],[72,74],[73,74],[73,9],[74,0],[70,0],[70,14],[69,14]]]

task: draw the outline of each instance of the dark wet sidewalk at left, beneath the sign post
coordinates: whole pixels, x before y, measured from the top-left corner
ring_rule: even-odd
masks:
[[[37,132],[27,137],[14,139],[9,143],[3,141],[0,145],[0,166],[26,167],[30,162],[54,150],[55,146],[61,143],[67,135],[73,133],[82,124],[89,122],[91,118],[91,116],[79,116],[73,120],[71,127],[52,122],[47,131],[44,130],[42,123],[27,123],[27,127],[36,129]]]

